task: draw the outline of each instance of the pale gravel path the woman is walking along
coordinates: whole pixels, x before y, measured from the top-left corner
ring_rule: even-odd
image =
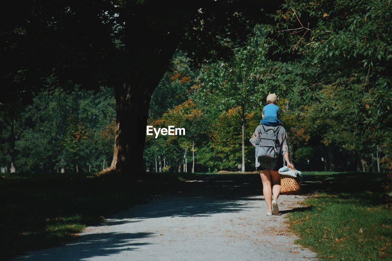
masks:
[[[281,215],[266,216],[258,174],[204,175],[149,203],[120,212],[76,241],[18,260],[299,260],[284,220],[305,196],[279,196]]]

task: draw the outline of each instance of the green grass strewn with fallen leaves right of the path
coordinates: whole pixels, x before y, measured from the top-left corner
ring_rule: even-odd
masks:
[[[392,207],[381,187],[386,174],[305,172],[324,183],[324,192],[289,214],[297,243],[321,259],[392,258]]]

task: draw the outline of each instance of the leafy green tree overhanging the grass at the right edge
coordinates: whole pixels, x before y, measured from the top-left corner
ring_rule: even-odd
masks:
[[[324,121],[318,126],[320,141],[329,154],[337,154],[336,148],[351,151],[362,170],[377,145],[391,144],[392,103],[384,98],[392,89],[389,9],[383,0],[285,1],[275,25],[267,27],[273,66],[265,68],[263,78],[270,78],[294,108],[317,111],[309,123]]]

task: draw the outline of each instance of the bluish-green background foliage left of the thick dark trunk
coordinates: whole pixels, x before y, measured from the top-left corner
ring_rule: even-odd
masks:
[[[62,89],[42,92],[16,119],[16,170],[18,172],[88,172],[102,169],[113,156],[115,101],[113,91]],[[2,114],[4,116],[4,114]],[[9,127],[2,126],[3,157],[9,157]],[[4,158],[3,158],[4,159]],[[2,161],[7,166],[9,158]],[[5,163],[5,164],[4,164]],[[110,162],[109,162],[110,163]],[[106,166],[109,164],[106,163]]]

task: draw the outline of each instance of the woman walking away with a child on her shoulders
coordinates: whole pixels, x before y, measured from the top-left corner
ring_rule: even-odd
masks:
[[[279,155],[278,159],[275,161],[264,161],[256,157],[256,169],[259,171],[261,181],[263,182],[263,195],[265,203],[267,203],[266,214],[267,216],[271,216],[272,214],[279,214],[277,201],[280,194],[280,174],[278,173],[278,170],[283,167],[283,157],[285,157],[287,167],[293,168],[294,166],[290,163],[289,160],[289,148],[287,147],[287,135],[285,128],[281,126],[264,126],[263,128],[263,125],[259,125],[256,130],[254,130],[252,138],[250,138],[252,145],[255,146],[259,142],[259,133],[265,132],[266,128],[273,129],[273,131],[278,134],[277,147],[280,146],[280,151],[282,154]],[[271,181],[273,184],[272,190]],[[272,194],[274,194],[273,200]]]

